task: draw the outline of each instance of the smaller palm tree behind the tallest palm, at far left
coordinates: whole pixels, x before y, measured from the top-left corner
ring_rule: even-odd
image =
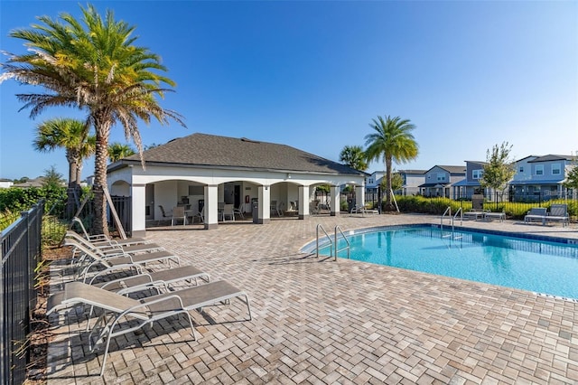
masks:
[[[89,125],[78,119],[56,117],[36,127],[33,147],[36,151],[50,152],[64,148],[69,162],[69,190],[67,213],[79,205],[78,192],[82,174],[82,161],[94,154],[95,136],[89,135]]]

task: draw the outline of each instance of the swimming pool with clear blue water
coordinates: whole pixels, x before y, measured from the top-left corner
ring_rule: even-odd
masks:
[[[435,225],[346,235],[351,259],[578,300],[578,246],[562,243],[567,239],[524,239]],[[320,254],[330,255],[329,248]],[[340,251],[338,257],[347,258],[347,253]]]

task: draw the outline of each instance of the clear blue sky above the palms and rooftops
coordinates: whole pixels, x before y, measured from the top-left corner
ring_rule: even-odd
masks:
[[[76,1],[0,1],[0,47],[35,16],[79,14]],[[418,158],[397,169],[484,161],[508,141],[512,156],[578,151],[576,1],[96,1],[136,26],[136,43],[163,58],[174,93],[161,102],[176,123],[142,125],[144,145],[196,132],[283,143],[339,161],[364,146],[369,123],[399,116],[415,124]],[[5,61],[5,58],[2,58]],[[63,151],[37,153],[35,127],[14,80],[0,85],[0,177],[36,177]],[[121,127],[111,141],[125,143]],[[194,150],[194,149],[192,149]],[[369,172],[382,170],[370,164]],[[83,177],[93,174],[93,160]]]

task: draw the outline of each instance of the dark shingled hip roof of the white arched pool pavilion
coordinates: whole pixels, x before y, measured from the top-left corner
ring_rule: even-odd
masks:
[[[322,174],[366,173],[297,148],[247,138],[192,134],[144,151],[145,164],[293,171]],[[109,166],[109,171],[140,164],[138,154]]]

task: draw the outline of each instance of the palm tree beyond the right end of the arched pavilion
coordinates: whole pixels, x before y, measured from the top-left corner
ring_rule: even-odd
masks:
[[[391,204],[391,167],[392,162],[406,163],[417,157],[418,146],[411,131],[415,125],[409,119],[400,117],[379,117],[369,124],[375,132],[365,136],[365,150],[368,162],[383,158],[386,166],[386,207],[392,209]]]

